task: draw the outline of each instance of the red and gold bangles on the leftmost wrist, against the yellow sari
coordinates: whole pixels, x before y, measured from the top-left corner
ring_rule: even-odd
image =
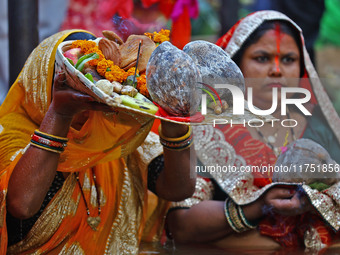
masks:
[[[43,150],[62,153],[67,146],[67,142],[68,138],[46,134],[36,129],[30,144]]]

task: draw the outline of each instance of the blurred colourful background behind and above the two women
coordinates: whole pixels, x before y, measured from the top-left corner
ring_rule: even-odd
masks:
[[[59,30],[81,28],[97,36],[101,36],[102,30],[112,30],[126,40],[130,34],[167,28],[172,31],[172,43],[181,48],[192,40],[214,43],[239,18],[257,10],[271,9],[285,13],[302,28],[307,50],[340,112],[340,0],[0,2],[0,104],[28,54],[41,40]]]

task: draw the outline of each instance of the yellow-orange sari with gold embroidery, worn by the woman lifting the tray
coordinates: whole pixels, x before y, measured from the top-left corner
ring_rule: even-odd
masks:
[[[51,102],[57,46],[75,32],[86,31],[63,31],[44,40],[27,59],[0,107],[1,254],[134,254],[145,225],[147,240],[155,240],[159,234],[158,223],[163,220],[158,213],[147,212],[148,164],[163,152],[157,136],[149,134],[153,119],[133,113],[92,112],[80,131],[70,128],[57,170],[79,172],[91,217],[98,216],[100,197],[97,231],[87,224],[84,199],[75,175],[70,174],[28,235],[7,247],[8,181]],[[166,208],[166,202],[157,203]]]

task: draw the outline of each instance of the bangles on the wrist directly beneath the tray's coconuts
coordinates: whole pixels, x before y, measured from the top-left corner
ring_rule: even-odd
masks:
[[[165,137],[162,133],[161,126],[159,126],[158,128],[158,134],[159,134],[159,141],[161,142],[161,144],[169,150],[182,151],[182,150],[189,148],[193,142],[192,127],[190,126],[188,129],[188,132],[181,137],[177,137],[177,138]]]

